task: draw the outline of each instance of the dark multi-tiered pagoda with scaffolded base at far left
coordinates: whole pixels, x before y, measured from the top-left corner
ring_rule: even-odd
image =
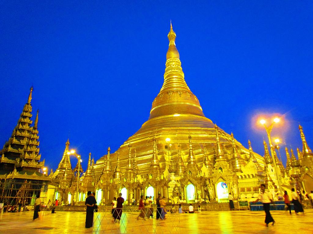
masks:
[[[0,151],[0,200],[3,202],[34,202],[43,185],[51,178],[47,176],[44,160],[40,162],[38,114],[33,126],[32,93],[30,88],[27,103],[13,129],[9,140]],[[45,168],[45,169],[44,169]]]

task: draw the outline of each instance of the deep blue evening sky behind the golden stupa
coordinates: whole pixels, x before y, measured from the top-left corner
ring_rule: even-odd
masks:
[[[1,145],[33,85],[49,168],[69,134],[84,168],[89,151],[95,159],[109,145],[114,152],[149,117],[172,19],[185,80],[206,117],[263,155],[265,130],[252,127],[253,116],[280,113],[286,122],[273,136],[302,148],[300,122],[313,148],[312,1],[127,2],[0,2]]]

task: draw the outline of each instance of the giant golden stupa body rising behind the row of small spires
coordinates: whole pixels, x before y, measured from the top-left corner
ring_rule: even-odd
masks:
[[[231,159],[232,137],[222,129],[215,128],[215,124],[206,118],[196,95],[188,87],[182,71],[179,52],[176,48],[176,34],[172,23],[167,35],[169,47],[166,53],[166,67],[163,86],[152,102],[149,119],[142,124],[141,128],[117,150],[120,154],[122,171],[126,170],[129,155],[134,154],[136,149],[136,162],[141,175],[149,174],[149,168],[153,155],[153,138],[156,137],[158,160],[161,172],[169,168],[171,158],[178,160],[178,145],[185,164],[188,163],[189,135],[192,137],[192,152],[194,162],[198,168],[202,167],[204,160],[204,147],[208,159],[213,162],[214,148],[217,145],[216,131],[218,131],[220,151],[223,151],[225,159]],[[234,144],[239,149],[243,160],[249,159],[249,150],[244,148],[238,141]],[[131,146],[131,152],[130,152]],[[169,157],[169,154],[171,155]],[[264,165],[262,157],[254,154],[258,161]],[[110,154],[112,168],[116,165],[116,152]],[[100,176],[106,156],[97,160],[94,168],[96,177]],[[178,172],[176,172],[176,175]]]

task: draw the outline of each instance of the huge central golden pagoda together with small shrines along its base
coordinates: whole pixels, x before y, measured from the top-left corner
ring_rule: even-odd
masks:
[[[264,171],[259,169],[264,166],[264,159],[254,153],[250,165],[251,150],[205,117],[198,98],[185,81],[172,23],[167,37],[169,46],[164,81],[152,102],[150,116],[135,134],[110,154],[112,167],[119,162],[117,168],[121,169],[123,176],[119,183],[114,182],[117,180],[116,173],[114,178],[111,174],[109,179],[104,180],[103,171],[108,162],[107,156],[103,156],[93,167],[95,181],[98,181],[95,189],[101,189],[108,202],[121,189],[127,191],[125,198],[128,202],[132,196],[139,199],[141,193],[161,194],[172,199],[174,187],[175,191],[181,191],[180,199],[185,202],[208,196],[222,199],[217,192],[212,193],[214,186],[223,182],[223,188],[226,186],[228,191],[235,190],[239,196],[238,183],[240,185],[243,179],[246,180],[242,193],[258,191],[257,183],[265,179]],[[133,158],[132,149],[136,149]],[[171,184],[174,181],[179,183]],[[248,186],[249,181],[251,184]]]

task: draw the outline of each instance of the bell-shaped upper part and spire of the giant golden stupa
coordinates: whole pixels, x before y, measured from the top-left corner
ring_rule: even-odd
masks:
[[[164,83],[152,103],[149,119],[164,115],[204,116],[197,97],[190,91],[184,79],[172,23],[167,37],[169,46],[166,53]]]

